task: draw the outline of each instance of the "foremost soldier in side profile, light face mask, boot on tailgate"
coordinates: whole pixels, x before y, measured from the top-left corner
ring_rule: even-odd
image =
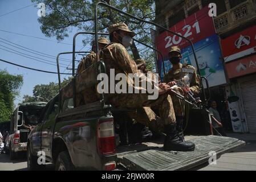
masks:
[[[109,27],[109,39],[112,43],[105,46],[100,52],[100,57],[105,62],[108,76],[110,75],[110,69],[115,69],[115,75],[118,73],[124,73],[125,75],[128,73],[139,73],[135,61],[125,49],[125,47],[132,45],[133,36],[135,36],[135,33],[129,30],[125,23],[116,23]],[[127,84],[131,83],[127,82]],[[131,86],[134,87],[134,85]],[[156,106],[159,109],[160,118],[166,133],[164,149],[192,151],[194,150],[194,143],[185,142],[182,138],[178,137],[172,98],[169,94],[166,94],[169,90],[169,85],[160,84],[158,88],[159,97],[156,100],[149,100],[149,94],[141,92],[139,94],[112,93],[105,94],[105,96],[107,103],[115,107],[141,108]]]

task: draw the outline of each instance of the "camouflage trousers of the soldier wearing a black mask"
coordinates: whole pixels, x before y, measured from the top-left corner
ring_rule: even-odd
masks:
[[[181,94],[184,96],[184,92],[180,87],[174,88],[173,89],[175,92]],[[172,97],[172,102],[173,102],[173,108],[176,117],[184,117],[185,115],[185,104],[184,101],[180,100],[180,98],[176,97],[173,93],[170,93],[170,97]]]

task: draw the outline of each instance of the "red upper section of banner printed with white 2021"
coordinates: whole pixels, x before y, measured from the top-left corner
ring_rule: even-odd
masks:
[[[186,38],[192,40],[193,43],[216,34],[213,18],[208,15],[208,12],[209,8],[206,6],[200,11],[197,11],[197,13],[194,13],[188,18],[177,23],[169,30],[185,36]],[[169,32],[163,32],[159,36],[156,36],[155,43],[157,49],[161,51],[164,56],[168,55],[168,50],[171,46],[178,46],[180,48],[189,46],[188,41],[176,35],[170,34]]]

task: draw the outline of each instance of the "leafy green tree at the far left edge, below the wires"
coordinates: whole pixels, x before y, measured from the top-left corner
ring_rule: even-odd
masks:
[[[0,122],[10,119],[22,84],[22,75],[10,75],[6,70],[0,70]]]

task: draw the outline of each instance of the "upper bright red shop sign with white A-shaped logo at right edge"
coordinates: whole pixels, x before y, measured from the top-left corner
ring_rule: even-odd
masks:
[[[256,52],[256,26],[221,40],[225,62]]]

